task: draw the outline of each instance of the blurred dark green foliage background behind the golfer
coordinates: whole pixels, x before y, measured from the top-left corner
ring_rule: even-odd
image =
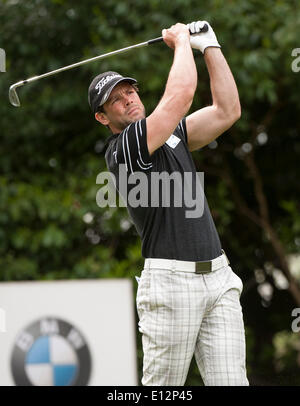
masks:
[[[9,104],[8,89],[199,19],[215,30],[242,105],[241,119],[193,158],[205,172],[223,248],[244,283],[249,381],[300,385],[300,340],[292,329],[292,311],[300,308],[296,0],[0,1],[0,48],[6,52],[6,73],[0,73],[0,280],[130,277],[136,291],[143,258],[126,208],[96,204],[109,133],[90,112],[87,88],[105,70],[134,76],[151,113],[163,94],[172,50],[161,43],[28,84],[19,89],[19,109]],[[200,52],[195,59],[199,83],[191,111],[211,102]],[[138,332],[137,345],[140,378]],[[201,384],[193,360],[186,385]]]

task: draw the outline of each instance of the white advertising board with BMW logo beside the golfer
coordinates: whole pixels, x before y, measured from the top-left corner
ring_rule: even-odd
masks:
[[[137,385],[129,279],[0,283],[0,386]]]

